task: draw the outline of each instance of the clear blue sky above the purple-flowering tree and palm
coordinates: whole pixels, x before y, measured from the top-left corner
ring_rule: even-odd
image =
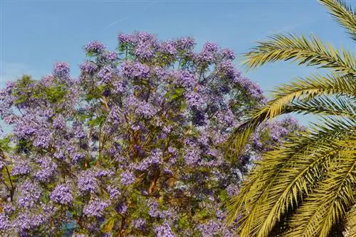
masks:
[[[83,45],[101,40],[114,50],[119,32],[147,31],[162,40],[192,36],[198,47],[211,41],[237,54],[256,40],[287,32],[313,33],[336,47],[356,49],[316,0],[0,0],[0,13],[0,87],[23,73],[35,78],[49,74],[56,61],[69,62],[72,74],[78,75]],[[239,62],[236,65],[244,71]],[[268,95],[273,86],[311,72],[315,68],[278,62],[246,76]],[[306,124],[311,117],[298,118]]]

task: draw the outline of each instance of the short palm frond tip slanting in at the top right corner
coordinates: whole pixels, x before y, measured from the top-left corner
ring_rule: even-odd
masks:
[[[319,0],[335,20],[343,26],[352,39],[356,40],[356,10],[340,0]]]

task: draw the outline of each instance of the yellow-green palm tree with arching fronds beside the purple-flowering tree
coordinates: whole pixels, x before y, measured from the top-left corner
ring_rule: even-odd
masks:
[[[355,9],[320,0],[356,40]],[[240,236],[356,236],[356,60],[318,38],[273,35],[246,53],[248,69],[277,60],[328,68],[277,87],[231,136],[234,157],[263,121],[292,112],[323,120],[256,162],[229,205]]]

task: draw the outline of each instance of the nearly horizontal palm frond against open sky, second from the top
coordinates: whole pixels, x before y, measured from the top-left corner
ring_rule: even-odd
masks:
[[[318,38],[295,35],[272,35],[270,40],[258,42],[256,48],[245,54],[248,69],[276,62],[293,60],[299,64],[321,68],[331,68],[336,72],[356,74],[355,56],[347,50],[339,50],[331,45],[324,45]]]

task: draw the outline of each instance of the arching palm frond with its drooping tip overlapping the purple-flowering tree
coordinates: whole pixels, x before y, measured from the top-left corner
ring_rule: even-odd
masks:
[[[306,103],[315,97],[329,94],[355,97],[356,83],[353,83],[352,75],[332,74],[326,77],[312,75],[277,87],[272,94],[272,100],[263,108],[251,111],[251,114],[246,116],[246,121],[231,134],[229,146],[233,149],[227,149],[232,152],[229,155],[231,158],[236,158],[245,147],[251,133],[263,121],[281,114],[297,112],[297,106],[300,106],[302,112],[305,112],[301,104],[294,104],[293,109],[293,107],[290,107],[290,103],[295,101]],[[322,114],[321,110],[323,108],[320,107],[320,114]],[[318,108],[315,108],[313,112],[318,114]]]

